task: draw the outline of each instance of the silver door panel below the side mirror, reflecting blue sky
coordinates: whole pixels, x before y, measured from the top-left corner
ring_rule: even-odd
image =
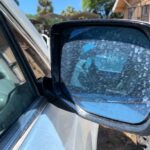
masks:
[[[20,149],[96,150],[97,133],[98,124],[48,103]]]

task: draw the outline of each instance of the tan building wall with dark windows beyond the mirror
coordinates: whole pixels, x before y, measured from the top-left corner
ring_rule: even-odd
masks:
[[[128,0],[125,5],[124,18],[150,22],[150,0]]]

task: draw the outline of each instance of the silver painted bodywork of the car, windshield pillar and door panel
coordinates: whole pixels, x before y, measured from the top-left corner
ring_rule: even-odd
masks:
[[[50,68],[48,47],[25,14],[19,10],[13,0],[1,0],[0,9]],[[46,101],[36,119],[15,144],[13,143],[13,149],[96,150],[97,134],[98,124],[57,108]],[[10,144],[6,144],[4,149]]]

